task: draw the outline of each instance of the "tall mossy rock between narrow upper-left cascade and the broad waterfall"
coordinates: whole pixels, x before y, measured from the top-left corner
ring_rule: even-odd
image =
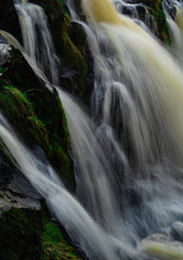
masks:
[[[69,12],[62,0],[32,0],[43,8],[51,28],[56,53],[64,70],[74,72],[73,84],[62,80],[62,87],[88,102],[88,94],[93,86],[88,83],[90,68],[86,32],[80,25],[71,23]],[[80,10],[80,1],[77,1]],[[64,72],[61,69],[61,77]],[[76,90],[73,86],[77,86]],[[89,90],[90,89],[90,90]]]

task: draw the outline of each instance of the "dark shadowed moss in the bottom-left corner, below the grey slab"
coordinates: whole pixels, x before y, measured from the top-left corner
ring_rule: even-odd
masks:
[[[41,258],[41,212],[12,208],[0,218],[1,260]]]

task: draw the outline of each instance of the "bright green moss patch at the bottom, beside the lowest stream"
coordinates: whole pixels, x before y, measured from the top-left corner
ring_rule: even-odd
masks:
[[[60,227],[50,221],[48,217],[43,218],[42,260],[81,260],[76,250],[64,239]]]

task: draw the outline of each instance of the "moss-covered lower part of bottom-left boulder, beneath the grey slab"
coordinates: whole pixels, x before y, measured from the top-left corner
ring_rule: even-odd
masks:
[[[48,210],[12,208],[0,217],[1,260],[81,260]]]

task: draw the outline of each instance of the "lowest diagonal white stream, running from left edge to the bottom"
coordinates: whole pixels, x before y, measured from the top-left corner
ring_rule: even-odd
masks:
[[[113,252],[113,238],[108,237],[77,199],[65,190],[54,170],[50,166],[45,167],[21,144],[2,115],[0,115],[0,138],[22,172],[45,198],[57,219],[90,259],[116,259]]]

